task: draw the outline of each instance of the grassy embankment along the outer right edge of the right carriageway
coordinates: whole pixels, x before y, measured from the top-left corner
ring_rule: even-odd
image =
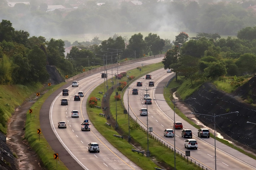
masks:
[[[181,77],[178,76],[178,79],[181,80]],[[193,82],[194,83],[194,82]],[[233,86],[231,86],[229,83],[223,82],[222,80],[220,81],[214,81],[213,83],[218,89],[226,91],[228,93],[233,92],[235,90],[235,88]],[[172,93],[170,92],[170,89],[179,86],[179,88],[177,89],[177,93],[178,95],[180,95],[181,99],[186,99],[188,96],[190,96],[194,91],[196,91],[200,86],[202,85],[202,83],[198,83],[198,84],[193,84],[193,87],[191,86],[190,83],[190,79],[187,79],[185,81],[183,81],[182,84],[178,84],[175,79],[172,80],[172,82],[169,84],[169,86],[164,89],[164,98],[165,100],[170,100],[172,98],[170,98],[170,96],[172,96]],[[169,104],[169,106],[171,108],[173,108],[173,103],[167,102]],[[177,113],[182,119],[184,119],[185,121],[189,122],[191,125],[193,125],[194,127],[196,127],[197,129],[200,129],[200,127],[198,125],[196,125],[193,121],[190,121],[190,119],[188,119],[183,113],[181,113],[180,110],[178,110],[177,108],[175,108],[175,113]],[[211,137],[214,138],[214,134],[211,134]],[[244,151],[241,148],[238,148],[237,146],[234,146],[232,143],[229,143],[227,140],[224,139],[220,139],[218,137],[216,137],[216,140],[220,141],[221,143],[224,143],[227,146],[230,146],[233,149],[236,149],[237,151],[240,151],[241,153],[256,159],[256,156],[254,156],[253,154],[247,153],[246,151]]]

